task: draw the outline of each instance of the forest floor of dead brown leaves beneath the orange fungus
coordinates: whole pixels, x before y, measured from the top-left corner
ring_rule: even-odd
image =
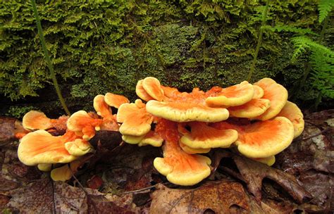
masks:
[[[4,118],[0,139],[4,139]],[[169,183],[153,167],[161,149],[120,144],[99,132],[94,155],[68,182],[20,163],[17,141],[0,147],[2,213],[333,213],[334,110],[304,113],[303,134],[268,167],[215,149],[211,176],[192,187]],[[1,136],[2,134],[2,136]],[[6,134],[6,133],[5,133]]]

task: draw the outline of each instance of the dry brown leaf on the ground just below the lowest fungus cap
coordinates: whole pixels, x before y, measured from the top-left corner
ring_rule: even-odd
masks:
[[[149,213],[249,213],[247,195],[236,182],[212,182],[197,189],[170,189],[157,185]]]

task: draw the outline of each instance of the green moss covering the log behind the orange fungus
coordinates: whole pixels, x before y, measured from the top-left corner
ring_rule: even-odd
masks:
[[[262,1],[76,1],[37,4],[58,82],[72,111],[97,94],[135,99],[137,80],[154,76],[190,91],[245,80]],[[318,30],[315,0],[272,1],[268,25]],[[29,4],[0,5],[0,92],[12,100],[40,96],[51,79]],[[275,77],[293,85],[289,34],[266,31],[252,82]],[[90,108],[91,109],[91,108]],[[50,108],[49,111],[54,111]]]

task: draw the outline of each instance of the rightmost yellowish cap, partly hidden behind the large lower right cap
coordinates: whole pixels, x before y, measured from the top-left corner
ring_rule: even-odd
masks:
[[[278,113],[277,116],[285,117],[292,122],[292,125],[295,129],[294,138],[302,134],[304,130],[304,115],[295,103],[287,101],[287,103],[285,103],[285,106],[280,111],[280,113]]]

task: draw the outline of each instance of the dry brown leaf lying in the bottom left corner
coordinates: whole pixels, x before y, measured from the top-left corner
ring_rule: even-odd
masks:
[[[109,201],[99,191],[84,191],[51,180],[38,180],[12,191],[11,196],[6,207],[20,213],[133,213]]]

